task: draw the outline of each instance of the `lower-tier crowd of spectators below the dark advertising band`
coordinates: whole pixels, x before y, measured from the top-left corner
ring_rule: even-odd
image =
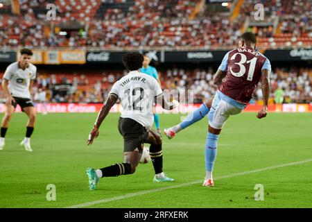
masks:
[[[162,89],[177,89],[184,92],[192,89],[194,103],[202,103],[216,93],[217,87],[212,83],[214,69],[165,69],[159,71]],[[123,71],[102,74],[40,74],[33,86],[33,98],[40,91],[46,92],[46,101],[51,103],[103,103],[113,83],[127,74]],[[57,87],[55,87],[57,85]],[[270,97],[274,99],[275,91],[284,90],[284,103],[311,103],[312,69],[276,68],[270,74]],[[1,101],[5,101],[2,92]],[[261,84],[254,92],[250,103],[261,103]]]

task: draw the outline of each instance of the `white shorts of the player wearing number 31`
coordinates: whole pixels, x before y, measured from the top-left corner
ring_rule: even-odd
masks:
[[[242,109],[220,99],[220,96],[217,93],[216,96],[214,96],[214,100],[212,101],[212,105],[208,113],[209,126],[215,128],[216,130],[220,130],[223,128],[227,118],[229,118],[230,115],[236,115],[242,111]]]

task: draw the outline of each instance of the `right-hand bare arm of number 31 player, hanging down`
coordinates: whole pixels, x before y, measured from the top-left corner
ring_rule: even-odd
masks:
[[[270,96],[270,71],[268,69],[262,69],[261,89],[263,96],[263,107],[257,114],[257,118],[259,119],[266,117],[266,114],[268,113],[268,99]]]

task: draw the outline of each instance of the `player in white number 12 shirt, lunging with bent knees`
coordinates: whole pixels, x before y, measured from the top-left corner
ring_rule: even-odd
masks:
[[[141,159],[142,144],[150,144],[150,157],[155,169],[155,182],[173,181],[162,171],[162,138],[152,130],[153,103],[161,104],[166,110],[177,107],[177,101],[168,102],[164,99],[162,88],[152,76],[138,70],[144,60],[141,53],[128,53],[123,56],[123,65],[130,71],[112,86],[105,105],[98,114],[94,128],[89,134],[87,144],[92,144],[98,137],[98,128],[118,99],[122,111],[119,117],[119,133],[123,136],[124,161],[102,169],[87,169],[89,189],[96,189],[99,178],[135,173]]]

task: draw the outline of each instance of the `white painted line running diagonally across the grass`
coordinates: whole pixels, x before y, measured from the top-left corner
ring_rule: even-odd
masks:
[[[236,176],[243,176],[243,175],[250,174],[250,173],[258,173],[258,172],[268,171],[270,169],[277,169],[277,168],[281,168],[281,167],[289,167],[289,166],[293,166],[293,165],[297,165],[297,164],[304,164],[306,162],[312,162],[312,159],[302,160],[302,161],[299,161],[299,162],[290,162],[288,164],[280,164],[280,165],[277,165],[277,166],[265,167],[265,168],[261,168],[261,169],[255,169],[255,170],[252,170],[252,171],[244,171],[244,172],[241,172],[241,173],[232,173],[232,174],[229,174],[229,175],[226,175],[226,176],[216,177],[215,180],[220,180],[220,179],[224,179],[224,178],[233,178],[233,177],[236,177]],[[193,182],[185,182],[185,183],[182,183],[180,185],[173,185],[173,186],[168,186],[168,187],[160,187],[160,188],[157,188],[157,189],[149,189],[149,190],[139,191],[139,192],[132,193],[132,194],[125,194],[125,195],[121,195],[121,196],[115,196],[115,197],[112,197],[112,198],[106,198],[106,199],[103,199],[103,200],[94,200],[94,201],[91,201],[91,202],[82,203],[82,204],[78,204],[78,205],[72,205],[72,206],[65,207],[65,208],[89,207],[89,206],[96,205],[96,204],[99,204],[99,203],[107,203],[107,202],[111,202],[111,201],[115,201],[115,200],[122,200],[122,199],[126,199],[126,198],[131,198],[131,197],[134,197],[134,196],[140,196],[140,195],[144,195],[144,194],[155,193],[155,192],[158,192],[158,191],[164,191],[166,189],[174,189],[174,188],[178,188],[178,187],[187,187],[187,186],[191,186],[191,185],[196,185],[196,184],[201,183],[201,182],[202,182],[202,180],[196,180],[196,181],[193,181]]]

